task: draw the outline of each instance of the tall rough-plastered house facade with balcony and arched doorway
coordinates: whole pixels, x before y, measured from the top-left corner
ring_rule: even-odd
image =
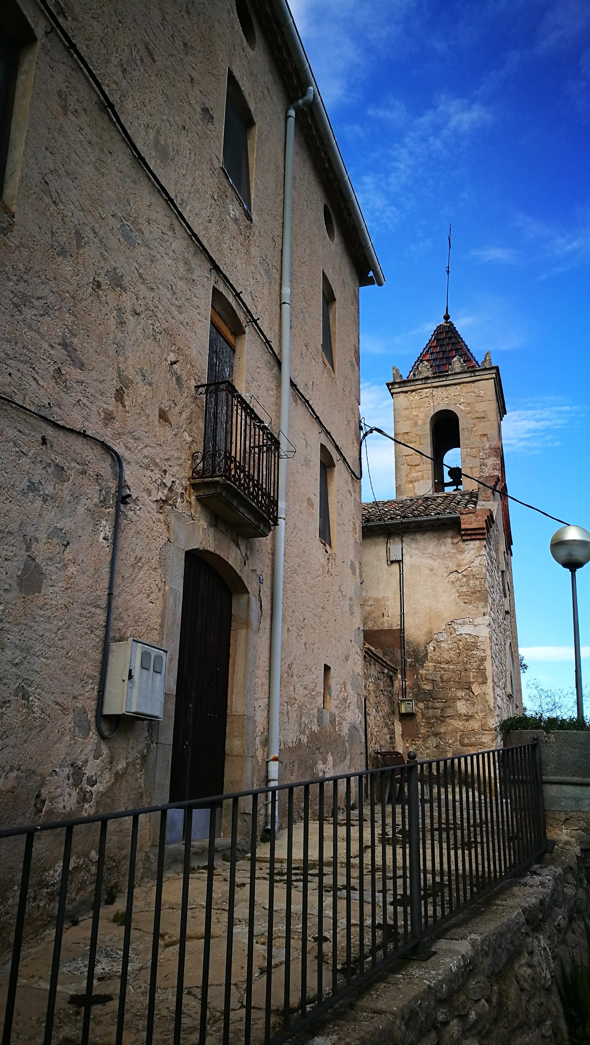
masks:
[[[16,77],[0,205],[5,823],[168,800],[181,630],[213,612],[182,624],[188,562],[230,607],[218,775],[225,791],[266,782],[272,512],[199,485],[203,386],[229,358],[240,409],[278,437],[286,112],[307,87],[279,0],[115,3],[109,32],[95,0],[52,9],[8,0],[0,21]],[[282,780],[364,758],[355,463],[372,248],[320,110],[316,93],[295,122]],[[108,741],[94,715],[118,470],[100,441],[126,477],[110,637],[167,651],[162,720],[123,716]]]

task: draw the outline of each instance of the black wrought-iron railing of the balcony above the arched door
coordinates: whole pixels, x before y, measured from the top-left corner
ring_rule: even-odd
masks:
[[[192,478],[227,480],[276,526],[278,439],[231,381],[199,385],[196,392],[205,396],[205,428]]]

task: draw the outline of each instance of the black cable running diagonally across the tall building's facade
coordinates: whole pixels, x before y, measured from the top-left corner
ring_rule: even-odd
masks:
[[[103,85],[101,85],[100,80],[98,79],[96,73],[94,72],[94,70],[92,69],[92,67],[89,64],[89,62],[85,59],[85,56],[82,53],[82,51],[80,50],[80,48],[77,47],[77,45],[74,43],[74,41],[70,37],[68,30],[65,28],[64,25],[62,25],[62,23],[60,22],[60,19],[58,18],[58,16],[54,14],[53,10],[51,10],[51,7],[47,3],[47,0],[39,0],[39,2],[41,4],[41,6],[43,7],[44,11],[46,13],[47,17],[49,18],[51,24],[55,27],[55,29],[60,33],[60,36],[61,36],[62,40],[64,41],[66,47],[74,55],[76,62],[78,63],[78,65],[82,67],[82,69],[84,70],[84,72],[88,76],[88,78],[89,78],[90,83],[92,84],[92,86],[94,87],[96,93],[99,95],[99,97],[104,101],[105,107],[106,107],[109,115],[111,116],[111,118],[112,118],[113,122],[115,123],[116,127],[118,129],[118,131],[120,132],[120,134],[122,135],[122,137],[124,138],[124,140],[126,140],[127,144],[129,145],[131,152],[135,156],[135,159],[141,165],[141,167],[143,168],[143,170],[145,171],[145,173],[148,175],[148,177],[150,178],[150,180],[154,183],[154,185],[158,189],[160,195],[167,203],[168,207],[171,207],[171,209],[174,211],[174,213],[176,214],[176,216],[178,217],[179,222],[181,223],[181,225],[183,226],[183,228],[185,229],[185,231],[188,233],[188,235],[190,236],[190,238],[192,239],[192,241],[195,243],[197,243],[197,246],[199,247],[199,249],[203,252],[203,254],[207,258],[207,261],[211,265],[211,269],[214,270],[214,272],[217,272],[219,276],[221,276],[221,278],[223,279],[223,281],[226,284],[226,286],[231,291],[231,293],[233,294],[233,296],[237,299],[237,301],[242,305],[244,311],[248,316],[248,325],[249,326],[253,326],[254,329],[257,331],[257,333],[260,336],[264,345],[269,350],[269,352],[271,353],[273,359],[275,361],[275,363],[277,364],[277,366],[280,369],[280,357],[277,354],[276,349],[274,348],[274,345],[272,344],[270,338],[265,332],[264,328],[260,326],[259,318],[256,317],[256,316],[254,316],[254,312],[252,311],[252,309],[250,308],[250,306],[244,300],[244,298],[242,296],[242,291],[239,291],[235,287],[235,285],[233,284],[233,282],[230,279],[230,277],[222,269],[222,266],[219,263],[219,261],[215,260],[215,258],[213,257],[213,255],[211,254],[211,252],[205,246],[205,243],[201,239],[199,233],[196,232],[196,230],[192,228],[192,226],[191,226],[190,222],[188,220],[188,218],[186,217],[184,211],[181,210],[181,208],[177,204],[176,200],[174,199],[174,196],[172,195],[172,193],[168,191],[168,189],[166,188],[166,186],[163,184],[163,182],[160,181],[160,179],[158,178],[156,171],[151,166],[151,164],[149,163],[149,161],[146,160],[146,158],[143,156],[143,154],[141,153],[139,146],[135,143],[135,140],[132,138],[131,133],[127,129],[127,126],[123,123],[121,117],[119,116],[119,113],[117,112],[115,103],[109,97],[109,94],[107,93],[107,91],[103,87]],[[293,389],[294,392],[296,392],[296,394],[301,399],[301,402],[304,403],[304,405],[308,408],[308,410],[310,411],[310,413],[312,414],[312,416],[314,417],[314,419],[321,426],[322,431],[325,433],[325,435],[330,439],[331,443],[334,445],[335,449],[338,451],[340,458],[344,462],[344,464],[345,464],[346,468],[348,469],[348,471],[350,472],[350,475],[353,477],[353,479],[356,479],[358,482],[360,482],[360,480],[361,480],[360,474],[357,474],[357,472],[355,471],[355,469],[353,468],[353,466],[349,464],[349,462],[347,461],[344,452],[342,451],[342,448],[336,442],[336,439],[332,435],[330,428],[324,424],[324,422],[322,421],[322,419],[319,416],[319,414],[317,413],[317,411],[314,409],[314,407],[312,405],[312,403],[310,402],[310,400],[308,399],[308,397],[301,392],[300,388],[296,385],[296,382],[293,380],[293,378],[291,378],[291,388]]]

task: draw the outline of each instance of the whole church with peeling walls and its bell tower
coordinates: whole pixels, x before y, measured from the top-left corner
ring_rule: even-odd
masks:
[[[395,500],[363,505],[365,642],[405,675],[405,749],[493,747],[497,723],[522,707],[500,372],[489,354],[477,363],[446,315],[408,377],[394,367],[387,387]],[[448,481],[452,450],[460,469]]]

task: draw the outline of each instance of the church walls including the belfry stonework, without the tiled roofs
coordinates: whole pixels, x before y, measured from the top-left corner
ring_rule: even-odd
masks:
[[[434,373],[388,384],[398,439],[432,454],[431,422],[441,410],[459,421],[463,489],[493,484],[501,474],[501,415],[504,410],[497,367]],[[432,462],[395,444],[395,496],[434,492]],[[518,637],[509,553],[501,509],[489,509],[494,525],[485,540],[462,540],[457,522],[414,527],[391,540],[404,542],[407,693],[415,717],[402,720],[404,741],[425,757],[494,746],[500,719],[522,707]],[[365,640],[400,664],[398,565],[386,564],[386,537],[363,538]],[[515,660],[515,692],[509,689],[508,648]]]

